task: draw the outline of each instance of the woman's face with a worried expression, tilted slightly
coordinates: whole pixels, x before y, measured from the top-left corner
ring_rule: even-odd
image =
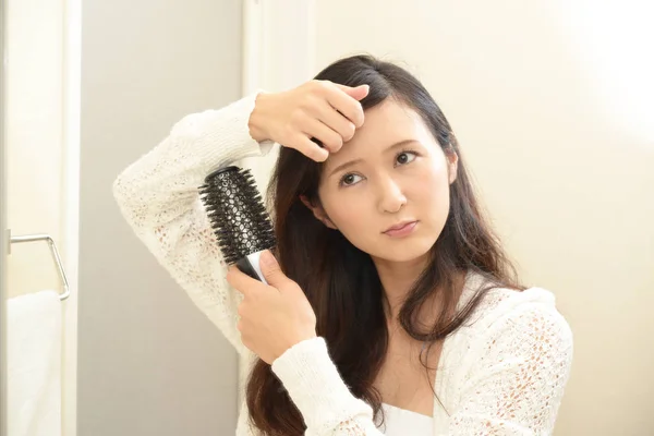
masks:
[[[447,219],[457,155],[443,152],[420,116],[388,98],[365,111],[354,137],[325,161],[314,214],[373,258],[425,255]],[[405,222],[399,233],[387,229]]]

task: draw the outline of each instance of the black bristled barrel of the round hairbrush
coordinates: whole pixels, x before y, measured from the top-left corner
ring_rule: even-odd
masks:
[[[250,170],[231,166],[215,171],[199,186],[199,195],[228,264],[276,245],[270,217]]]

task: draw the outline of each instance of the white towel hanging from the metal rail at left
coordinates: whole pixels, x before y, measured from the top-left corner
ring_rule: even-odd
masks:
[[[10,436],[61,436],[61,306],[55,291],[7,301]]]

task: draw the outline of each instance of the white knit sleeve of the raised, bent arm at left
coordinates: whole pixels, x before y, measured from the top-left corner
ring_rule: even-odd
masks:
[[[247,353],[237,329],[242,296],[226,281],[227,265],[198,187],[211,171],[270,149],[272,142],[259,144],[250,135],[257,94],[184,117],[112,186],[138,239],[241,354]]]

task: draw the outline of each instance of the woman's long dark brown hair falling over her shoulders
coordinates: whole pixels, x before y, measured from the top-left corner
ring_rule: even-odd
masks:
[[[476,291],[459,313],[451,315],[460,290],[456,277],[461,272],[481,274],[493,286],[524,289],[517,283],[514,268],[482,215],[450,124],[424,86],[404,69],[371,56],[341,59],[315,78],[347,86],[368,84],[370,94],[361,100],[364,110],[395,98],[422,117],[446,154],[458,155],[448,218],[431,250],[428,266],[399,312],[400,325],[409,336],[432,346],[468,319],[489,288]],[[356,398],[371,404],[377,421],[379,414],[383,419],[382,398],[373,384],[389,341],[384,292],[371,256],[338,230],[323,225],[300,199],[305,195],[312,204],[320,204],[317,192],[323,166],[281,147],[267,192],[278,241],[276,254],[282,270],[300,284],[311,302],[317,335],[325,338],[344,383]],[[441,310],[425,331],[419,328],[416,315],[435,293]],[[427,368],[426,363],[423,365]],[[264,435],[304,434],[300,411],[270,365],[261,359],[250,373],[246,402],[251,423]]]

